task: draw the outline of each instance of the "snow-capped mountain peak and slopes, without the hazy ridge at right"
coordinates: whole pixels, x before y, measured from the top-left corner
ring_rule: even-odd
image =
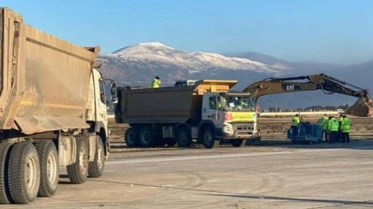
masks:
[[[187,53],[161,43],[143,43],[124,47],[99,57],[102,73],[123,85],[148,86],[159,76],[170,86],[177,79],[238,79],[287,74],[285,65],[267,65],[247,58],[227,57],[217,53]],[[262,76],[260,76],[262,77]],[[250,79],[252,80],[252,79]],[[247,82],[246,82],[247,83]]]

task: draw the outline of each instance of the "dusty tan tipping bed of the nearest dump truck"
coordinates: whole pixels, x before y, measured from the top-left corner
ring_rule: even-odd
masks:
[[[33,134],[88,127],[88,82],[99,48],[36,30],[7,8],[0,8],[0,41],[0,129]]]

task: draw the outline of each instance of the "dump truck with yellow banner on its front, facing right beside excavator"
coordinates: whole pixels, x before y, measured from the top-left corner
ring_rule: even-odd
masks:
[[[128,147],[190,147],[193,139],[207,149],[221,139],[241,147],[256,134],[256,113],[250,93],[229,91],[236,83],[204,79],[193,86],[119,87],[116,122],[130,126]]]

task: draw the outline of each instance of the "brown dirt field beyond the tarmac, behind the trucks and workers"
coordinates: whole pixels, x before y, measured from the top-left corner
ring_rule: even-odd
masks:
[[[306,115],[304,121],[315,123],[322,115]],[[339,117],[339,115],[335,115]],[[350,117],[351,118],[351,139],[373,138],[373,117]],[[259,117],[258,128],[262,132],[262,141],[287,140],[286,133],[290,127],[291,116]],[[110,141],[112,143],[124,143],[124,132],[127,124],[116,123],[109,119]]]

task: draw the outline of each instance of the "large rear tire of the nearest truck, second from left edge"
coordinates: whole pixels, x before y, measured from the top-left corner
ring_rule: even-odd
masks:
[[[14,144],[9,159],[9,190],[15,204],[29,204],[36,199],[40,183],[38,152],[30,142]]]

